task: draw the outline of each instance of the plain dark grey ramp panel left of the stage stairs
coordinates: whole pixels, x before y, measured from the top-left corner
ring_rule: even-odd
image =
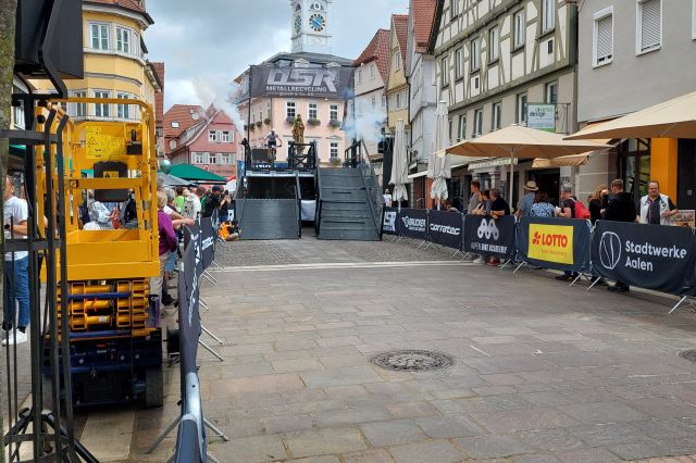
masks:
[[[241,239],[299,238],[298,204],[294,199],[237,200]]]

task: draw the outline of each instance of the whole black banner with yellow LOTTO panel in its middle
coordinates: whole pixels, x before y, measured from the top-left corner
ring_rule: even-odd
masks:
[[[526,262],[570,272],[589,271],[591,230],[576,218],[522,217],[517,249]]]

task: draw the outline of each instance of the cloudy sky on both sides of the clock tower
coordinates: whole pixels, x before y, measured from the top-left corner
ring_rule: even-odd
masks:
[[[208,105],[231,92],[249,64],[290,51],[288,0],[148,0],[150,61],[164,61],[164,104]],[[334,0],[333,53],[357,58],[408,0]]]

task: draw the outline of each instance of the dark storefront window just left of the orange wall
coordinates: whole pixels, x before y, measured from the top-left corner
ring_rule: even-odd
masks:
[[[648,193],[650,182],[650,140],[631,138],[619,147],[619,172],[624,190],[637,202]]]

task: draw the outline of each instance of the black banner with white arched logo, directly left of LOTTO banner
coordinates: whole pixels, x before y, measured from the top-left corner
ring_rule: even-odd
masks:
[[[512,215],[504,215],[497,221],[483,215],[467,215],[463,249],[483,255],[512,256],[514,232],[515,224]]]

